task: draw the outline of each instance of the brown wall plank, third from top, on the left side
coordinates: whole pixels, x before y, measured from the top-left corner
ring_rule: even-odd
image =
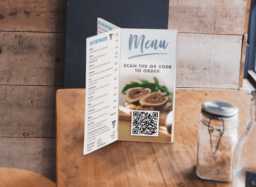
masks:
[[[0,86],[0,137],[55,137],[58,88]]]

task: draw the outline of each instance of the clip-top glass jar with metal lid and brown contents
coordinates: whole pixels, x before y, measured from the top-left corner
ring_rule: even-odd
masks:
[[[202,104],[196,173],[201,179],[230,182],[238,142],[238,108],[209,101]]]

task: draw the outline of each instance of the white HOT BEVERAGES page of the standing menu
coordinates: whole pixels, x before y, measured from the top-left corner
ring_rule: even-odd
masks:
[[[117,140],[120,29],[86,39],[84,155]]]

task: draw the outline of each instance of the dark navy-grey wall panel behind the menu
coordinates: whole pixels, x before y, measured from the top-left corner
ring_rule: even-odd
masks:
[[[121,28],[167,29],[169,0],[68,0],[65,88],[85,87],[86,38],[96,35],[97,17]]]

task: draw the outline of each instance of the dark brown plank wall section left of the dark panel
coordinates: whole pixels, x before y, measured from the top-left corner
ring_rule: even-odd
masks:
[[[55,180],[55,91],[63,88],[66,1],[0,5],[0,167]]]

